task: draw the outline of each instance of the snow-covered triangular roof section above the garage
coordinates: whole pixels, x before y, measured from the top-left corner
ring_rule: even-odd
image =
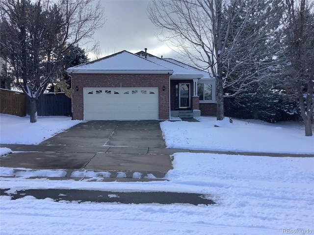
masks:
[[[67,69],[69,73],[170,73],[173,71],[123,50]]]

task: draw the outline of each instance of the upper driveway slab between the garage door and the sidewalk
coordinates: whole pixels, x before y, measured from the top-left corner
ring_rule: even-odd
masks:
[[[159,122],[154,120],[83,122],[41,144],[165,148]]]

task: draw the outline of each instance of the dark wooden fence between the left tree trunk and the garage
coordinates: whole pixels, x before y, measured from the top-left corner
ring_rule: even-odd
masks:
[[[27,102],[29,115],[29,102]],[[44,93],[37,100],[38,116],[72,116],[72,100],[64,93]]]

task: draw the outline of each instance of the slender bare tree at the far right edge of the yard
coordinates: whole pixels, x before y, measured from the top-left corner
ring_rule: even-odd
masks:
[[[305,125],[305,135],[312,136],[314,118],[314,2],[286,0],[284,68],[286,92],[298,101]]]

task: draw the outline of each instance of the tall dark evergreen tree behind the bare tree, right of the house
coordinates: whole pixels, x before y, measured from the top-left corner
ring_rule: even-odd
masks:
[[[282,31],[279,30],[279,25],[285,9],[284,4],[282,0],[259,1],[259,4],[251,6],[249,1],[237,1],[234,5],[226,7],[223,12],[227,13],[232,8],[238,8],[239,4],[244,4],[243,11],[235,18],[234,27],[229,29],[226,46],[235,47],[237,28],[246,21],[242,31],[245,40],[236,42],[236,49],[232,50],[231,59],[225,67],[225,73],[228,74],[224,84],[225,97],[234,97],[233,112],[230,115],[274,122],[279,120],[285,113],[283,110],[287,109],[283,100],[280,74],[284,56],[280,42]],[[273,7],[274,5],[276,7]],[[247,9],[250,9],[252,14],[245,19]],[[263,21],[256,20],[263,19],[263,16],[268,17],[264,17]],[[272,24],[268,25],[270,17]],[[227,28],[225,30],[227,31]]]

